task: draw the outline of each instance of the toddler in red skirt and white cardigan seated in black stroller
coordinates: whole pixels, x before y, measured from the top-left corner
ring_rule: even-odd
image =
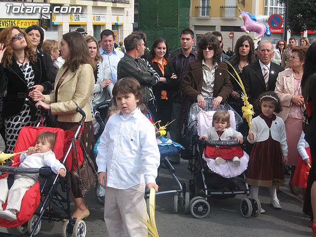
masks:
[[[199,137],[200,140],[237,140],[243,143],[242,134],[230,127],[230,114],[225,110],[219,110],[213,115],[212,126]],[[205,158],[215,159],[216,164],[225,164],[227,160],[232,160],[235,166],[240,165],[243,151],[240,146],[211,146],[204,149]]]

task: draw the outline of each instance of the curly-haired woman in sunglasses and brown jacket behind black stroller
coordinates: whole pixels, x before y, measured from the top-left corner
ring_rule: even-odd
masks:
[[[222,49],[216,36],[206,33],[197,42],[197,60],[188,64],[181,83],[183,103],[179,118],[179,128],[183,127],[189,101],[196,102],[205,109],[205,97],[214,97],[215,110],[232,93],[233,86],[228,74],[227,64],[221,63]],[[181,131],[181,129],[179,129]]]

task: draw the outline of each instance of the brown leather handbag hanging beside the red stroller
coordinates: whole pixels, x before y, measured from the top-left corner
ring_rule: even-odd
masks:
[[[90,191],[93,183],[96,180],[97,172],[94,168],[94,163],[86,153],[85,148],[82,144],[82,141],[79,141],[82,153],[83,153],[83,161],[79,165],[78,162],[78,149],[75,138],[72,138],[72,148],[73,148],[73,164],[70,171],[70,182],[71,182],[71,190],[73,192],[74,197],[84,197]],[[76,157],[75,157],[76,154]],[[73,170],[74,163],[77,163],[77,169]]]

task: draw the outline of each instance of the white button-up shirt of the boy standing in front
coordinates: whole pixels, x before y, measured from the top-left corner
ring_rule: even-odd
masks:
[[[98,173],[107,172],[107,187],[156,183],[160,154],[155,127],[136,110],[129,118],[121,112],[111,116],[101,135],[96,163]]]

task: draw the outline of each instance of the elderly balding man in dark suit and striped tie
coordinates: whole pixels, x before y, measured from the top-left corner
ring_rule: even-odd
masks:
[[[259,60],[242,70],[241,79],[249,96],[248,101],[252,105],[263,92],[275,90],[277,75],[284,70],[283,67],[271,62],[273,55],[272,42],[269,40],[261,41],[258,45]],[[254,112],[255,116],[258,116],[261,110],[254,106]]]

